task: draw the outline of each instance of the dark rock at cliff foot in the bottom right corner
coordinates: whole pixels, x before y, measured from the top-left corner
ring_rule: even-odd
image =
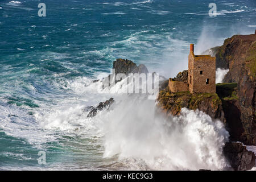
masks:
[[[255,165],[254,152],[247,151],[242,143],[225,143],[224,155],[228,159],[230,166],[236,171],[250,170]]]

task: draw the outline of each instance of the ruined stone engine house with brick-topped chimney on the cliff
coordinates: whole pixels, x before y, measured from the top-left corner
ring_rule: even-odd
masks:
[[[169,78],[171,92],[215,93],[216,57],[195,55],[194,44],[190,45],[188,71],[185,78]],[[178,74],[179,75],[179,74]]]

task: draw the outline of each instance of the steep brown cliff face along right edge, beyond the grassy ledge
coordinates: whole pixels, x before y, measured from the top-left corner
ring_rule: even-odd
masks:
[[[224,109],[228,127],[234,129],[230,130],[231,138],[256,145],[256,35],[234,35],[226,39],[217,48],[216,67],[229,69],[224,82],[237,83],[237,99],[226,101],[227,109]]]

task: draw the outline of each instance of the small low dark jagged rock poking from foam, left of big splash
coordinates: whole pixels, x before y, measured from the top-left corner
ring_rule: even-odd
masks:
[[[113,102],[114,102],[114,99],[110,98],[105,102],[100,102],[97,107],[93,107],[93,106],[85,107],[84,111],[89,111],[89,114],[87,115],[87,117],[92,118],[97,115],[98,111],[109,109],[109,107],[113,104]]]

